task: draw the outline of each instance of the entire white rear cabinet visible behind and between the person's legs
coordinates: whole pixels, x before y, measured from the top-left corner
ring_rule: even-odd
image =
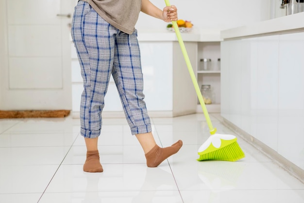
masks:
[[[144,77],[145,102],[150,116],[174,117],[195,113],[196,93],[177,41],[139,41]],[[197,61],[197,42],[185,42],[192,64]],[[79,116],[83,82],[72,44],[73,115]],[[103,116],[124,117],[115,83],[111,77],[105,96]]]

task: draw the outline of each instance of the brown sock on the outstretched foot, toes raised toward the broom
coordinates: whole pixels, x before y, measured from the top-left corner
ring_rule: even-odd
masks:
[[[145,154],[147,159],[148,167],[156,167],[160,165],[165,159],[169,156],[178,152],[178,150],[183,146],[181,140],[177,141],[171,147],[160,148],[158,145],[155,145],[148,153]]]

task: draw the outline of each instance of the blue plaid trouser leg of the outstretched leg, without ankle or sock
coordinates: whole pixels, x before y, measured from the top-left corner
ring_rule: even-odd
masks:
[[[122,107],[133,135],[151,132],[143,93],[139,46],[136,32],[116,35],[112,75],[121,99]]]

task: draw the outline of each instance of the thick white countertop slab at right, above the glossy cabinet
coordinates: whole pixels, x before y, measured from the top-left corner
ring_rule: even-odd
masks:
[[[273,32],[291,31],[301,28],[304,28],[304,12],[224,30],[220,32],[220,37],[222,39],[229,39],[235,37],[263,35]]]

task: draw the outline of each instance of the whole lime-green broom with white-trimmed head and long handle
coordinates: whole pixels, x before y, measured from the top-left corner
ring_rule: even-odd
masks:
[[[169,0],[165,0],[166,5],[170,6]],[[236,136],[227,135],[227,134],[216,134],[217,129],[213,128],[208,111],[206,109],[206,105],[203,101],[203,95],[201,93],[200,87],[196,81],[196,76],[193,72],[190,59],[186,52],[186,47],[184,41],[182,39],[181,33],[178,29],[177,22],[172,21],[173,28],[175,30],[175,34],[177,36],[178,42],[180,44],[182,53],[184,55],[186,65],[192,79],[195,91],[199,98],[200,104],[203,109],[203,114],[205,115],[207,125],[210,130],[211,136],[203,143],[203,145],[198,149],[198,154],[200,158],[198,161],[203,160],[222,160],[222,161],[237,161],[245,157],[244,152],[237,144]]]

